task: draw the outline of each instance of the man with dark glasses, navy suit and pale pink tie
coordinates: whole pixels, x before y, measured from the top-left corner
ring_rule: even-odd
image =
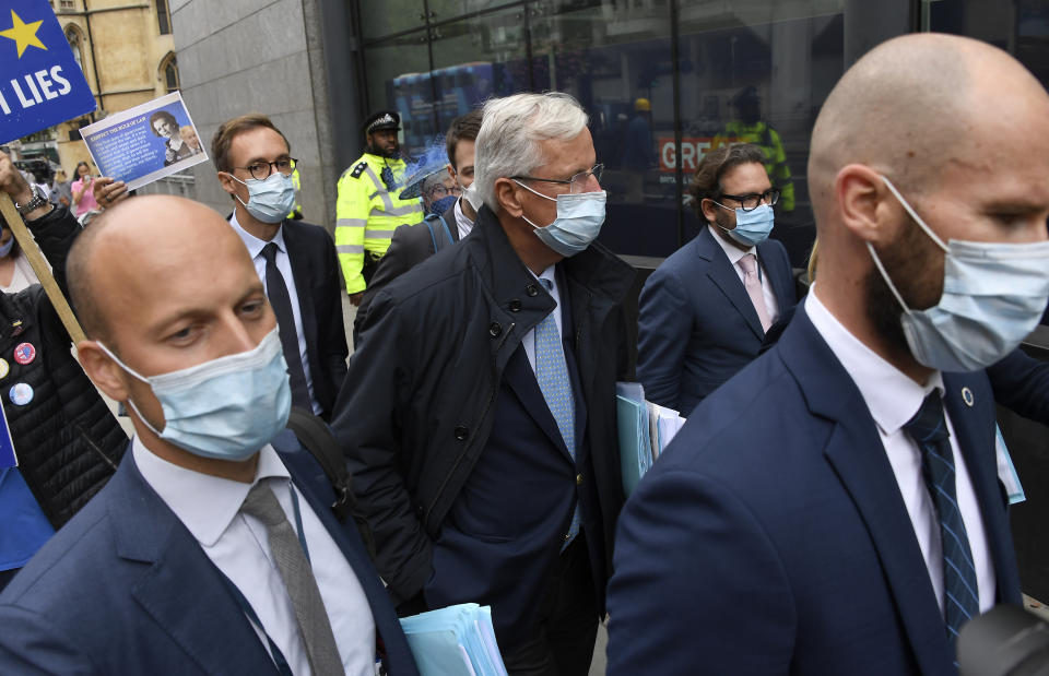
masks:
[[[780,193],[764,162],[751,144],[699,162],[689,193],[706,227],[641,290],[638,379],[650,401],[686,417],[757,356],[765,332],[797,303],[787,250],[768,239]]]

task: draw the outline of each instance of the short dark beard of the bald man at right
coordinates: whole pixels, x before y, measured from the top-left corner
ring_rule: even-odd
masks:
[[[907,216],[907,224],[904,225],[904,234],[899,240],[875,251],[885,266],[885,273],[896,285],[896,290],[903,296],[908,308],[923,310],[939,303],[943,294],[943,265],[934,265],[932,262],[941,250],[910,216]],[[939,275],[939,278],[934,275]],[[899,306],[876,265],[871,266],[863,286],[867,318],[879,337],[889,349],[910,354],[900,321],[904,308]]]

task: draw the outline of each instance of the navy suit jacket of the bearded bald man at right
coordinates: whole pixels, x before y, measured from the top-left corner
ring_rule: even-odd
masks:
[[[991,387],[982,371],[943,381],[997,598],[1019,603]],[[802,308],[696,408],[615,547],[610,676],[957,674],[874,420]]]

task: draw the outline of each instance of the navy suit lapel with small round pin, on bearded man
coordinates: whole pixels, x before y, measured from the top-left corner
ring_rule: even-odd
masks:
[[[979,387],[982,375],[944,373],[943,402],[951,416],[958,448],[973,483],[987,546],[994,565],[999,603],[1022,603],[1016,573],[1016,553],[1010,536],[1009,513],[998,487],[998,464],[994,455],[994,403],[987,387]],[[968,390],[965,403],[963,391]],[[986,400],[986,401],[982,401]]]

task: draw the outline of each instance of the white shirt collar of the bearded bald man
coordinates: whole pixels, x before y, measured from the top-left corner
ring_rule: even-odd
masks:
[[[820,301],[815,284],[805,297],[805,313],[852,378],[882,434],[898,431],[915,416],[933,389],[943,395],[940,371],[933,372],[923,386],[911,380],[841,325]]]

